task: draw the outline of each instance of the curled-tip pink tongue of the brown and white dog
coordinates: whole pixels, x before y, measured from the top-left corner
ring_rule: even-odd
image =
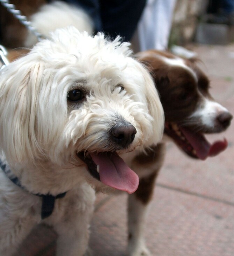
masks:
[[[196,150],[199,159],[205,160],[208,156],[216,156],[227,148],[226,139],[210,144],[202,134],[193,133],[186,128],[181,128],[181,130],[191,146]]]

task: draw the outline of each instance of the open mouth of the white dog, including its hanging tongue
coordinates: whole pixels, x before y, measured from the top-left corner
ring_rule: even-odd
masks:
[[[139,177],[130,169],[116,152],[85,153],[77,156],[86,163],[89,173],[112,188],[134,193],[139,184]]]

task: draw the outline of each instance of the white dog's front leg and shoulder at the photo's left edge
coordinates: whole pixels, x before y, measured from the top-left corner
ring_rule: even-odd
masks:
[[[41,198],[15,186],[0,171],[0,255],[12,256],[41,221]]]

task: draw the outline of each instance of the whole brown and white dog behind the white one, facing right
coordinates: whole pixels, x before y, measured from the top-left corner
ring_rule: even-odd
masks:
[[[225,150],[226,139],[210,144],[204,134],[223,132],[233,116],[210,95],[209,79],[196,60],[157,50],[140,52],[136,57],[148,67],[160,94],[165,115],[164,135],[196,159],[205,160]],[[161,142],[129,163],[140,177],[137,191],[129,196],[130,255],[150,255],[144,245],[143,230],[164,153],[165,143]]]

